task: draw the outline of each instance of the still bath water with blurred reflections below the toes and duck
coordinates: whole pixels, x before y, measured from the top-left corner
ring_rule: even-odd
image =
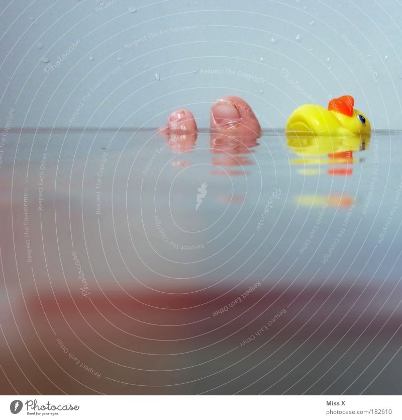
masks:
[[[9,133],[3,392],[400,393],[400,141]]]

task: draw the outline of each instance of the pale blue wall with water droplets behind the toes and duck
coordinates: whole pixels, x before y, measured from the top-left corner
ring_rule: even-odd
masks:
[[[312,100],[326,106],[329,95],[346,93],[375,128],[402,128],[402,6],[396,0],[151,3],[110,0],[100,10],[97,0],[1,0],[5,123],[13,107],[15,126],[68,126],[81,103],[73,127],[155,127],[176,107],[191,108],[199,125],[208,126],[211,101],[236,94],[263,126],[284,127],[294,107]],[[77,40],[47,74],[42,57],[55,65]],[[218,73],[207,74],[211,69]]]

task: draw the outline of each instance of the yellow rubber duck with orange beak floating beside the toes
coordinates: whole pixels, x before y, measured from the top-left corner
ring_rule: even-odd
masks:
[[[353,109],[349,95],[331,99],[328,110],[319,105],[302,105],[295,109],[286,124],[286,131],[306,132],[322,136],[364,135],[371,131],[367,117]]]

